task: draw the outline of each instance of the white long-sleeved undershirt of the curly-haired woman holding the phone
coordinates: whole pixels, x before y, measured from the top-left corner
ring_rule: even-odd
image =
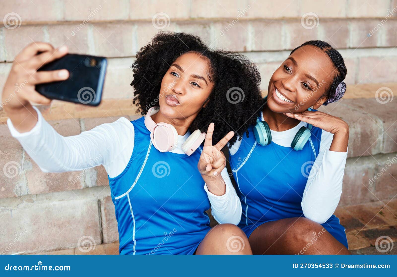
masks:
[[[118,176],[127,166],[134,151],[134,126],[121,117],[112,123],[104,123],[75,136],[64,137],[33,106],[38,121],[28,132],[18,132],[10,118],[7,120],[11,135],[16,138],[38,164],[43,172],[77,171],[103,165],[111,178]],[[182,143],[189,137],[178,136],[178,145],[173,153],[183,154]],[[137,149],[136,151],[139,151]],[[214,195],[206,184],[204,190],[211,203],[212,215],[219,223],[237,225],[241,219],[241,202],[227,174],[226,168],[221,175],[225,181],[225,194]]]

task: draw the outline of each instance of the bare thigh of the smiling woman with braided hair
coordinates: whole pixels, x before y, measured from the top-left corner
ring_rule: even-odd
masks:
[[[307,218],[266,222],[250,235],[253,254],[350,254],[322,225]]]

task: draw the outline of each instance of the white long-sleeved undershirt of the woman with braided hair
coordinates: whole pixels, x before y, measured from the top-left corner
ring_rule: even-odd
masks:
[[[263,114],[261,112],[261,118]],[[306,122],[299,124],[289,130],[272,133],[272,143],[284,147],[290,147],[295,134]],[[339,203],[342,194],[342,179],[345,170],[347,152],[330,151],[333,134],[322,130],[320,150],[308,176],[306,187],[303,191],[301,202],[303,214],[306,218],[320,224],[326,222]],[[241,145],[241,140],[230,149],[230,155],[234,155]]]

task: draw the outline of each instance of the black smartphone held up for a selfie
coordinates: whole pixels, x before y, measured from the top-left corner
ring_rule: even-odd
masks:
[[[64,81],[37,84],[36,91],[50,99],[98,106],[102,99],[108,61],[105,57],[66,54],[43,65],[38,71],[67,69],[69,78]]]

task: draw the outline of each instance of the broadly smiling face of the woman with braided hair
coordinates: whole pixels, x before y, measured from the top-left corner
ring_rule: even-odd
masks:
[[[293,52],[273,73],[267,104],[276,113],[298,113],[327,100],[324,96],[335,76],[335,66],[326,53],[305,45]]]

